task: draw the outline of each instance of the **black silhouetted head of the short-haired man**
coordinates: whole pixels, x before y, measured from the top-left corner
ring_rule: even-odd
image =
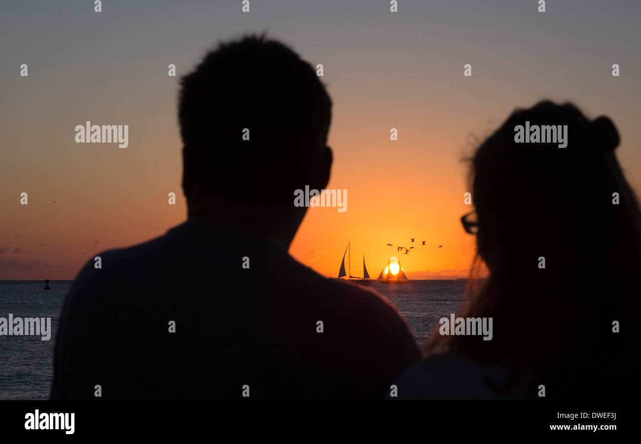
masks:
[[[248,36],[219,44],[181,87],[190,216],[271,209],[298,226],[305,209],[294,207],[294,191],[324,188],[331,168],[331,99],[313,67],[280,42]]]

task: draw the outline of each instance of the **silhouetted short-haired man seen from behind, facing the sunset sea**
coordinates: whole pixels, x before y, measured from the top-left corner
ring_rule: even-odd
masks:
[[[387,393],[420,357],[404,320],[287,253],[306,211],[294,191],[329,181],[330,117],[313,68],[264,37],[221,44],[183,78],[188,220],[80,271],[52,398]]]

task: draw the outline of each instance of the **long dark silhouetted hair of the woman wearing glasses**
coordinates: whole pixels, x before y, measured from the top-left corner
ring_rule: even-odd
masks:
[[[557,140],[517,142],[519,125],[545,125],[547,139],[556,126]],[[469,281],[462,316],[493,318],[494,336],[435,334],[428,350],[508,366],[512,382],[533,375],[526,396],[539,384],[546,398],[638,395],[641,212],[618,144],[608,117],[544,101],[515,110],[479,146],[473,269],[482,259],[490,275]]]

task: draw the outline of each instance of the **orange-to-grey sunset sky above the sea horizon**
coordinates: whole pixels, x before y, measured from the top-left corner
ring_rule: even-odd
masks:
[[[397,13],[385,0],[251,1],[249,13],[241,3],[103,1],[96,13],[93,1],[2,2],[0,279],[72,279],[96,253],[184,221],[179,78],[217,41],[249,32],[324,65],[328,188],[347,189],[347,211],[310,209],[290,248],[322,275],[337,275],[351,241],[353,275],[364,253],[376,278],[397,255],[392,243],[416,246],[401,257],[410,279],[467,277],[475,245],[459,221],[470,210],[462,158],[474,137],[540,99],[609,115],[641,190],[637,1],[548,1],[545,13],[536,0],[400,0]],[[128,124],[128,148],[76,144],[85,121]]]

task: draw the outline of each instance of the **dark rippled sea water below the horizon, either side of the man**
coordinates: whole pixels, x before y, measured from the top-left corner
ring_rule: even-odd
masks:
[[[51,318],[51,339],[41,336],[0,336],[0,400],[46,399],[53,375],[53,349],[58,316],[71,280],[0,281],[0,317]],[[419,343],[426,341],[438,320],[458,311],[466,280],[410,280],[409,284],[380,284],[375,289],[403,314]]]

